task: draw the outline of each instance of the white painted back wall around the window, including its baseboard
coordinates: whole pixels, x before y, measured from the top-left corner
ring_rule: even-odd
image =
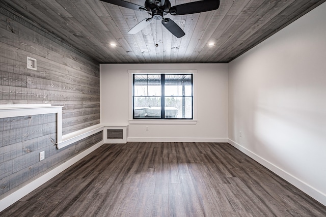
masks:
[[[197,70],[194,78],[197,123],[129,124],[128,70]],[[101,123],[129,124],[128,141],[227,142],[227,71],[227,64],[101,64]]]

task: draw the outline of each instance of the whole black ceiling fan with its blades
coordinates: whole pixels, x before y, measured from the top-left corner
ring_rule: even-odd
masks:
[[[152,17],[146,18],[139,22],[137,25],[133,26],[129,30],[129,34],[136,34],[140,32],[143,28],[154,20],[162,20],[162,25],[164,25],[175,37],[181,38],[185,35],[183,30],[170,18],[164,18],[164,15],[185,15],[185,14],[195,14],[205,11],[216,10],[220,6],[220,0],[202,0],[197,2],[190,2],[181,5],[176,5],[171,7],[169,0],[146,0],[145,7],[136,5],[123,0],[100,0],[102,2],[111,3],[124,8],[129,8],[135,11],[143,11],[149,13]]]

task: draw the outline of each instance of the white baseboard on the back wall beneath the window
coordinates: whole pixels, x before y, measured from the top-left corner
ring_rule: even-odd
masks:
[[[228,138],[128,137],[128,142],[228,142]]]

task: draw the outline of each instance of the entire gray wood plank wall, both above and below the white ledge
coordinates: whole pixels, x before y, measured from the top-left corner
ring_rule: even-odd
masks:
[[[100,122],[97,61],[5,7],[0,48],[0,104],[63,106],[63,135]],[[0,118],[0,199],[101,140],[99,132],[58,150],[55,114]]]

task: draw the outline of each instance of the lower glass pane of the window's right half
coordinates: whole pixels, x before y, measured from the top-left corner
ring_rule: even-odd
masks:
[[[192,97],[165,97],[166,118],[192,118]]]

